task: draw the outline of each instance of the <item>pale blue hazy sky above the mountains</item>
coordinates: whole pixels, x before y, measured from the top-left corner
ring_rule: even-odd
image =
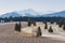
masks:
[[[0,15],[27,9],[41,13],[65,11],[65,0],[0,0]]]

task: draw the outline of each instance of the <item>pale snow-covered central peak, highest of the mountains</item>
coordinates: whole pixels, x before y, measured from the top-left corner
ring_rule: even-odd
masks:
[[[32,9],[20,11],[17,13],[22,14],[22,16],[29,16],[29,17],[36,17],[39,15],[39,13],[34,11]]]

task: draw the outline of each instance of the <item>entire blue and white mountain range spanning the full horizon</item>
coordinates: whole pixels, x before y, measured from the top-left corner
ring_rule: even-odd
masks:
[[[41,14],[38,13],[36,11],[34,11],[32,9],[28,9],[28,10],[24,10],[24,11],[15,11],[15,12],[10,12],[10,13],[5,13],[0,15],[0,17],[18,17],[18,16],[27,16],[27,17],[53,17],[53,16],[61,16],[61,17],[65,17],[65,11],[61,11],[61,12],[55,12],[55,13],[50,13],[50,14]]]

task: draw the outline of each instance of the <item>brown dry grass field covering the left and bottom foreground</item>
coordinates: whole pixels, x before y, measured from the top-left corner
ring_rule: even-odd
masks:
[[[27,24],[22,23],[22,26],[25,28]],[[14,32],[14,24],[0,26],[0,43],[65,43],[65,41],[52,40],[51,38],[24,37]]]

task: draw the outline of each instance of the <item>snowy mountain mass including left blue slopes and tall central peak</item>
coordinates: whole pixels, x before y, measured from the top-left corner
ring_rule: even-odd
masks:
[[[18,16],[39,17],[40,14],[31,9],[28,9],[24,11],[15,11],[15,12],[6,13],[6,14],[1,15],[0,17],[10,17],[10,16],[12,17],[18,17]]]

